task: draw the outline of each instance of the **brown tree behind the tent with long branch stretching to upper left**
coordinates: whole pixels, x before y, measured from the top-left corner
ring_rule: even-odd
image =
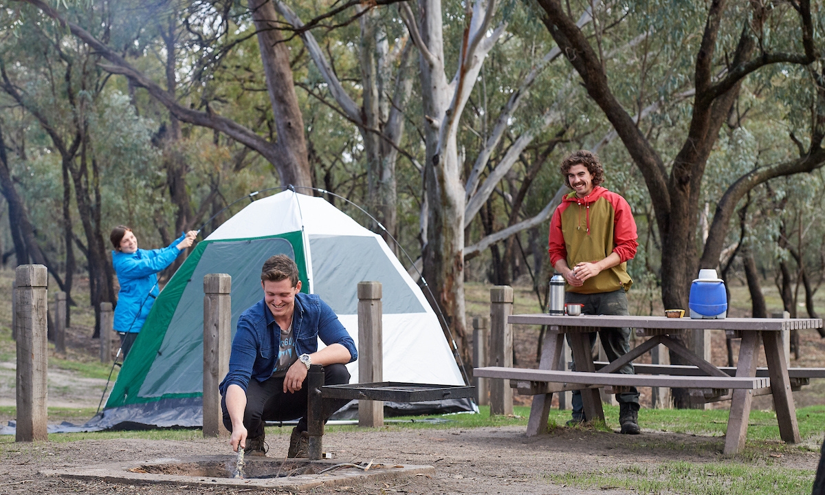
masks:
[[[254,26],[252,35],[257,38],[262,60],[262,68],[266,78],[266,88],[269,94],[271,111],[274,115],[275,141],[265,139],[255,130],[249,129],[246,125],[237,120],[220,115],[210,107],[209,99],[205,98],[204,105],[189,106],[185,101],[179,100],[179,95],[172,95],[169,88],[161,86],[151,75],[144,73],[135,64],[131,64],[126,59],[124,50],[120,47],[111,46],[106,40],[101,40],[94,33],[88,31],[75,21],[70,21],[59,9],[51,7],[42,0],[16,0],[16,2],[26,2],[40,9],[45,16],[53,18],[64,26],[73,35],[77,36],[83,43],[89,45],[97,54],[108,63],[98,64],[109,73],[124,75],[129,78],[136,87],[143,87],[153,98],[172,112],[178,120],[193,125],[208,127],[230,138],[238,141],[249,148],[254,149],[266,158],[278,172],[281,184],[294,186],[311,186],[311,174],[309,162],[307,160],[306,140],[304,137],[304,121],[301,115],[295,87],[293,85],[292,69],[290,68],[290,57],[285,44],[281,43],[280,31],[276,29],[276,12],[271,2],[266,0],[250,0],[247,9],[237,12],[239,8],[235,2],[228,2],[226,8],[220,8],[222,4],[218,2],[198,2],[208,17],[200,19],[200,23],[205,21],[210,23],[217,33],[210,33],[207,36],[195,36],[198,40],[209,42],[209,45],[200,46],[200,54],[197,56],[202,68],[198,70],[207,71],[212,64],[219,63],[222,56],[229,50],[237,47],[243,40],[247,40],[250,34],[248,30],[237,29],[234,22],[238,19],[250,22]],[[129,10],[130,2],[124,2],[121,8]],[[160,2],[164,8],[174,8],[177,12],[183,12],[183,5],[177,2]],[[187,4],[187,2],[182,2]],[[116,4],[115,4],[116,5]],[[96,8],[92,3],[89,8]],[[122,18],[110,20],[122,22]],[[189,20],[184,19],[184,23]],[[111,28],[112,26],[107,26]],[[125,26],[129,27],[129,26]],[[131,26],[134,29],[134,26]],[[139,27],[139,26],[138,26]],[[196,31],[196,30],[195,30]],[[168,82],[168,80],[167,80]],[[206,84],[206,81],[202,82]],[[205,108],[205,110],[198,110]]]

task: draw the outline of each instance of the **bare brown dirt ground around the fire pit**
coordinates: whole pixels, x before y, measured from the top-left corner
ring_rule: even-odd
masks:
[[[288,436],[269,436],[270,456],[286,455]],[[677,446],[674,448],[674,446]],[[399,430],[336,432],[324,436],[325,450],[337,460],[435,466],[431,477],[353,483],[315,488],[310,493],[479,493],[549,495],[628,493],[610,487],[581,490],[551,483],[548,474],[592,472],[620,466],[645,466],[663,459],[689,462],[720,460],[722,439],[644,431],[629,437],[601,431],[559,428],[549,436],[527,438],[524,427],[472,430]],[[81,467],[97,462],[155,460],[176,455],[226,454],[222,440],[107,440],[70,443],[0,444],[3,471],[0,494],[31,493],[207,493],[219,490],[163,484],[125,485],[45,477],[43,469]],[[785,454],[756,460],[794,469],[816,469],[818,454]],[[222,490],[240,493],[247,490]],[[248,490],[254,492],[256,490]]]

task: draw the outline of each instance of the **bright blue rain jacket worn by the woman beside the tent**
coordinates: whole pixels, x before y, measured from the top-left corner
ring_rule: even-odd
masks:
[[[111,252],[111,264],[115,267],[120,292],[115,307],[115,332],[140,332],[144,326],[154,299],[160,294],[158,271],[163,270],[181,254],[177,244],[186,234],[162,249],[138,249],[136,252]]]

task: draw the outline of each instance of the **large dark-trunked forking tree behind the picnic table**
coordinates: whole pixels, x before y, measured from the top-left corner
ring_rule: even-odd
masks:
[[[719,263],[728,219],[738,200],[761,182],[821,167],[825,160],[822,138],[818,135],[822,130],[815,126],[811,129],[810,148],[799,158],[760,167],[741,177],[728,189],[727,197],[720,200],[699,260],[695,232],[701,184],[719,130],[726,123],[742,82],[749,74],[774,64],[807,65],[818,59],[814,39],[819,34],[814,31],[810,3],[802,0],[773,6],[751,2],[743,7],[728,6],[724,0],[708,4],[648,2],[603,11],[602,24],[615,16],[640,16],[643,19],[640,26],[672,22],[670,32],[674,40],[668,41],[677,41],[686,53],[695,53],[692,71],[695,97],[690,107],[690,125],[681,148],[672,158],[669,172],[662,153],[625,110],[628,102],[615,94],[616,82],[610,78],[608,67],[610,60],[601,56],[603,40],[599,31],[596,30],[592,40],[588,39],[575,26],[572,12],[559,0],[539,0],[539,4],[550,35],[562,47],[582,78],[588,95],[610,120],[643,173],[662,238],[662,300],[668,307],[685,307],[689,282],[697,266]],[[691,19],[705,19],[698,46],[690,40],[689,35],[695,31],[689,26]]]

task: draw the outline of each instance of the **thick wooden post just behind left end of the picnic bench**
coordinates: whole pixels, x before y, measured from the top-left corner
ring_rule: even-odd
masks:
[[[513,289],[497,285],[490,289],[490,366],[513,365],[512,326],[507,317],[513,313]],[[513,413],[510,380],[490,380],[490,415]]]

